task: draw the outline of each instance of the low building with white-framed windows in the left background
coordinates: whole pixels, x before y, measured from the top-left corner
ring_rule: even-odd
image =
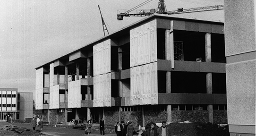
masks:
[[[0,120],[10,115],[15,120],[33,117],[33,93],[21,93],[17,88],[0,88]]]

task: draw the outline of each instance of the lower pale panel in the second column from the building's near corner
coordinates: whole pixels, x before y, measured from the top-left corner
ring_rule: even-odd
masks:
[[[94,107],[111,107],[111,73],[94,76]]]

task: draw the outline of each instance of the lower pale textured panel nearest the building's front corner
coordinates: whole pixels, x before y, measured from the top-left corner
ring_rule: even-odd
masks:
[[[131,105],[158,104],[157,62],[131,68]]]

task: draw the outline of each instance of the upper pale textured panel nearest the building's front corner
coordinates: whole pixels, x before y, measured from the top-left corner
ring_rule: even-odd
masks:
[[[130,67],[157,61],[156,19],[130,30]]]

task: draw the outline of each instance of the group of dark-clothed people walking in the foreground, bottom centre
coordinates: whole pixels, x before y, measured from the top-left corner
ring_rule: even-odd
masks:
[[[135,130],[131,121],[128,121],[128,124],[125,124],[124,121],[118,121],[115,126],[115,132],[117,136],[133,136],[134,132],[141,131],[139,133],[141,136],[167,136],[168,129],[166,128],[166,121],[162,121],[162,126],[158,127],[154,122],[147,124],[145,131]]]

